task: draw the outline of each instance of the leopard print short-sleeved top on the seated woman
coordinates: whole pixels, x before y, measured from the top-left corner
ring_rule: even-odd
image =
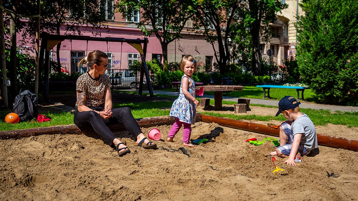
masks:
[[[107,87],[111,87],[110,78],[107,74],[100,75],[98,79],[94,79],[89,75],[88,71],[79,76],[76,83],[77,91],[86,91],[86,101],[84,105],[87,107],[104,104],[105,89]]]

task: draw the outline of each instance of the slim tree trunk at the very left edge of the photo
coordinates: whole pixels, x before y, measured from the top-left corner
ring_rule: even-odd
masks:
[[[0,0],[0,6],[3,6],[3,0]],[[3,9],[0,9],[0,45],[1,45],[1,72],[3,74],[3,82],[1,83],[1,90],[3,95],[4,107],[9,108],[8,101],[8,86],[7,86],[7,78],[6,78],[6,61],[5,61],[5,36],[4,36],[4,17],[3,17]]]

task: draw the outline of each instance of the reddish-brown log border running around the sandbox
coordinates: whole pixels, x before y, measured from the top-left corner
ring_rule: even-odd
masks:
[[[140,127],[169,125],[175,122],[175,119],[169,116],[146,117],[136,120]],[[203,121],[206,123],[214,122],[221,126],[242,129],[245,131],[251,131],[251,132],[266,134],[275,137],[280,136],[279,129],[267,127],[267,125],[258,124],[258,123],[243,122],[234,119],[214,117],[214,116],[197,113],[195,122],[199,122],[199,121]],[[124,127],[120,124],[109,126],[109,128],[112,131],[124,130]],[[40,128],[14,130],[14,131],[0,131],[0,139],[22,138],[22,137],[29,137],[29,136],[39,136],[43,134],[82,134],[82,132],[76,125],[71,124],[65,126],[40,127]],[[336,138],[332,136],[325,136],[322,134],[317,134],[317,139],[319,145],[358,151],[358,140]]]

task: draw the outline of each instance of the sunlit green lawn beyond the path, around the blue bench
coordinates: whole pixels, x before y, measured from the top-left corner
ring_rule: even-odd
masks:
[[[160,89],[160,90],[175,92],[175,88]],[[214,92],[204,92],[204,94],[205,95],[214,95]],[[261,99],[263,97],[263,90],[261,87],[244,86],[244,89],[242,92],[233,91],[233,92],[229,92],[227,94],[223,93],[223,95],[231,96],[231,97],[241,97],[241,98],[245,97],[245,98]],[[282,97],[284,97],[286,95],[291,95],[293,97],[297,97],[297,92],[295,89],[282,89],[282,88],[271,88],[270,89],[271,100],[280,100]],[[301,93],[300,93],[300,96],[301,96]],[[311,89],[305,89],[304,98],[305,98],[306,102],[314,101],[314,93],[312,92]]]

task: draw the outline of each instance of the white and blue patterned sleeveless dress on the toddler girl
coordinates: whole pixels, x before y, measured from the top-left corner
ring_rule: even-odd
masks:
[[[174,101],[173,106],[171,106],[169,116],[176,117],[181,122],[194,124],[197,109],[194,102],[183,94],[182,85],[184,77],[187,77],[192,82],[192,85],[188,86],[188,92],[195,98],[195,82],[192,78],[184,74],[180,83],[179,97]]]

